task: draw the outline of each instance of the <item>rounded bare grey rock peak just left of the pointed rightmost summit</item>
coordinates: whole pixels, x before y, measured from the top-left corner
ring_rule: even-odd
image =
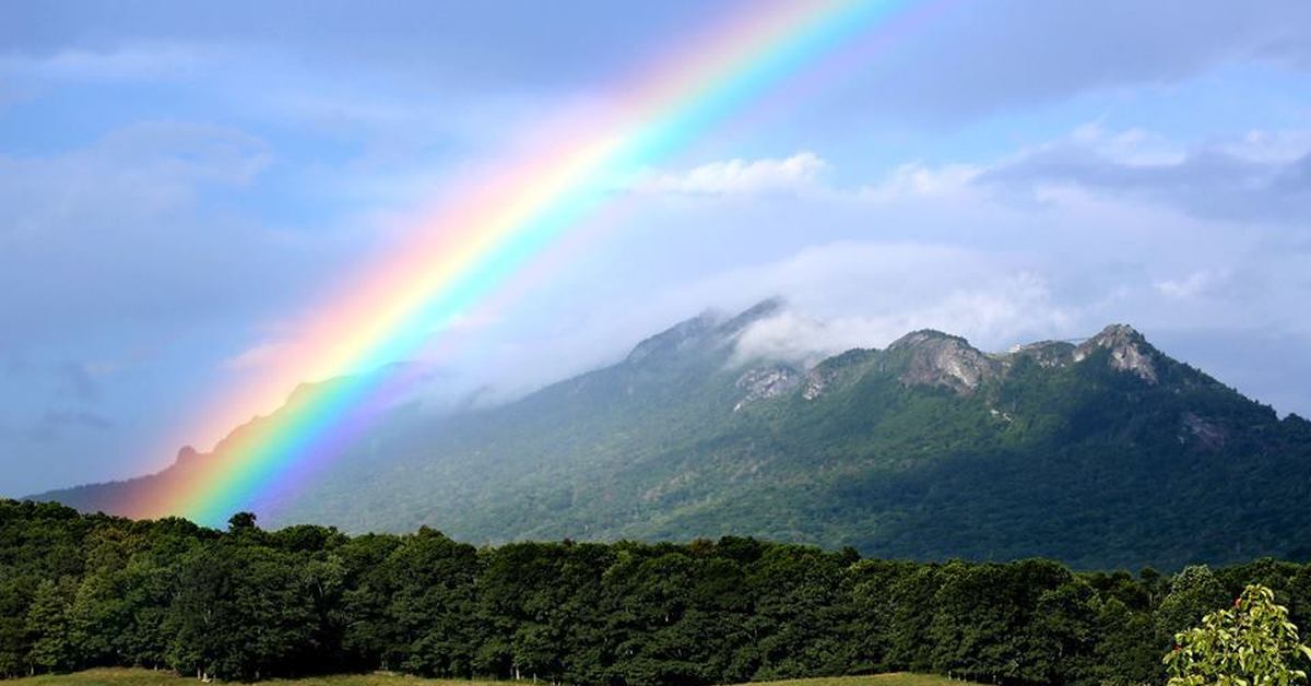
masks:
[[[893,341],[888,352],[909,355],[906,371],[901,375],[905,384],[945,386],[968,393],[1000,371],[995,359],[969,341],[940,331],[907,333]]]

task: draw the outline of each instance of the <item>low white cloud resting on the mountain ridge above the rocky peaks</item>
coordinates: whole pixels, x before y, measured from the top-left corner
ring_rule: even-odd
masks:
[[[810,248],[738,275],[771,283],[792,306],[743,332],[737,355],[812,362],[853,348],[884,348],[916,329],[961,334],[985,349],[1076,332],[1083,324],[1076,306],[1054,302],[1042,277],[1004,266],[1015,261],[941,245]]]

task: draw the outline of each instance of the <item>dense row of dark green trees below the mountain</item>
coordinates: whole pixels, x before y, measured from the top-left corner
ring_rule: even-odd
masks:
[[[1172,636],[1248,584],[1311,619],[1311,565],[1074,572],[861,559],[750,538],[475,547],[431,529],[225,531],[0,501],[0,676],[393,670],[733,683],[886,670],[1162,682]]]

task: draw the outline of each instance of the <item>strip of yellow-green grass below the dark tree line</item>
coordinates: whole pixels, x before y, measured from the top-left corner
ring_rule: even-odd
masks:
[[[7,683],[13,683],[14,686],[181,686],[182,683],[195,683],[195,679],[178,677],[168,672],[151,672],[148,669],[90,669],[76,674],[31,677]],[[261,683],[295,686],[472,686],[477,683],[510,682],[421,679],[391,674],[357,674],[311,677],[295,681],[273,679]],[[945,677],[927,674],[877,674],[872,677],[775,681],[771,682],[771,686],[947,686],[948,683],[953,682]]]

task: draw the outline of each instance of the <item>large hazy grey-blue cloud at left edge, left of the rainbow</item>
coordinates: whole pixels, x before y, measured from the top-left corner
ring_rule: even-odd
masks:
[[[269,302],[303,268],[225,198],[273,159],[244,131],[180,122],[128,125],[52,155],[0,155],[0,289],[41,294],[0,303],[4,325],[39,350],[134,325],[182,332]],[[69,357],[139,348],[122,345]]]

